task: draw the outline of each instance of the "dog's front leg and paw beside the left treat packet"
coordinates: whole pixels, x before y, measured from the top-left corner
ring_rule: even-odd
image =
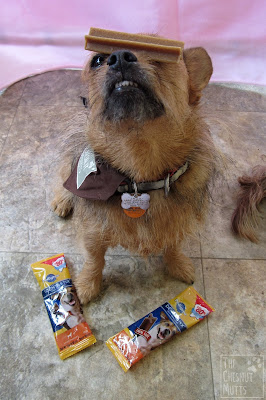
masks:
[[[107,246],[95,238],[94,241],[85,244],[85,249],[87,252],[85,263],[75,281],[78,297],[82,304],[88,303],[100,292]]]

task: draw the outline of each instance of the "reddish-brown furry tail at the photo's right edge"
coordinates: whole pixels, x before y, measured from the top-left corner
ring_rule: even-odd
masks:
[[[240,190],[237,207],[232,215],[232,230],[236,235],[258,243],[255,233],[259,223],[259,204],[266,197],[266,166],[257,166],[251,176],[238,178]]]

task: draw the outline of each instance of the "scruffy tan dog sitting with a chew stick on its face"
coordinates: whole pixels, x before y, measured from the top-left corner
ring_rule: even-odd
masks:
[[[181,242],[202,220],[214,171],[214,146],[197,106],[211,74],[211,59],[203,48],[185,50],[178,63],[120,50],[94,53],[86,65],[88,129],[68,144],[52,203],[61,217],[74,209],[78,222],[86,249],[75,282],[82,303],[99,293],[105,252],[118,244],[144,257],[163,254],[173,277],[194,281],[194,267]],[[65,184],[67,190],[62,183],[76,174],[88,145],[98,168],[88,178],[96,189],[90,192],[85,182],[80,192]],[[124,212],[125,191],[150,195],[143,216]]]

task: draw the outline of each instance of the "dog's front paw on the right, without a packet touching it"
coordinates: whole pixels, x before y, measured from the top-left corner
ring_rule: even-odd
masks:
[[[179,254],[175,260],[168,260],[167,268],[169,274],[179,281],[192,285],[195,281],[195,268],[190,260],[184,254]]]

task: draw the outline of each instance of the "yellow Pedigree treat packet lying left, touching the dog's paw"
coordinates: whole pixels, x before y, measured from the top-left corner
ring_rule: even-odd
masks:
[[[64,360],[95,343],[64,254],[38,261],[31,268],[42,291],[60,358]]]

